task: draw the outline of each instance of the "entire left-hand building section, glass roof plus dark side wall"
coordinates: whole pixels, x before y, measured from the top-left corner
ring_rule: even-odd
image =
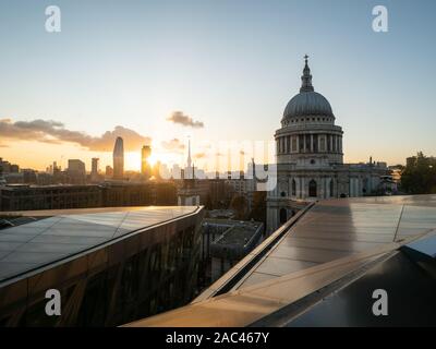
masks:
[[[21,214],[35,219],[0,229],[0,327],[118,326],[196,294],[202,206],[7,218]],[[47,314],[52,289],[62,300],[59,316]]]

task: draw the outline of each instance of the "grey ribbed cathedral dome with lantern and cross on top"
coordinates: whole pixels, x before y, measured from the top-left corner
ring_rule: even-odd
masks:
[[[307,65],[307,56],[305,57],[305,67],[300,93],[292,97],[284,108],[283,118],[290,119],[302,116],[326,116],[334,117],[331,106],[327,98],[315,92],[312,85],[311,69]]]

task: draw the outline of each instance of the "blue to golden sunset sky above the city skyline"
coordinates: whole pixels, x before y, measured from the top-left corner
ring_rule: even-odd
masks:
[[[45,28],[53,4],[60,33]],[[387,33],[373,31],[377,4]],[[190,139],[211,170],[219,143],[274,140],[305,53],[346,161],[436,155],[435,11],[432,0],[1,0],[0,157],[105,167],[122,135],[128,169],[142,144],[184,165]]]

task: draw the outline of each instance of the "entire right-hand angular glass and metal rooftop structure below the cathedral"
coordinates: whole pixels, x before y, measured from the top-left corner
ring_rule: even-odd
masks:
[[[436,325],[435,236],[436,195],[313,203],[190,305],[129,326]]]

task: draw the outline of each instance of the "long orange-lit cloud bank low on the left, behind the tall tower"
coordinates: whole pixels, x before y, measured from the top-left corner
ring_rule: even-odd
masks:
[[[113,131],[106,131],[101,136],[90,136],[82,131],[65,129],[64,124],[53,120],[36,119],[32,121],[16,121],[0,119],[0,137],[17,141],[36,141],[48,144],[70,142],[78,144],[93,152],[112,152],[116,139],[124,140],[124,151],[136,152],[143,145],[149,145],[150,137],[143,136],[136,131],[116,127]]]

